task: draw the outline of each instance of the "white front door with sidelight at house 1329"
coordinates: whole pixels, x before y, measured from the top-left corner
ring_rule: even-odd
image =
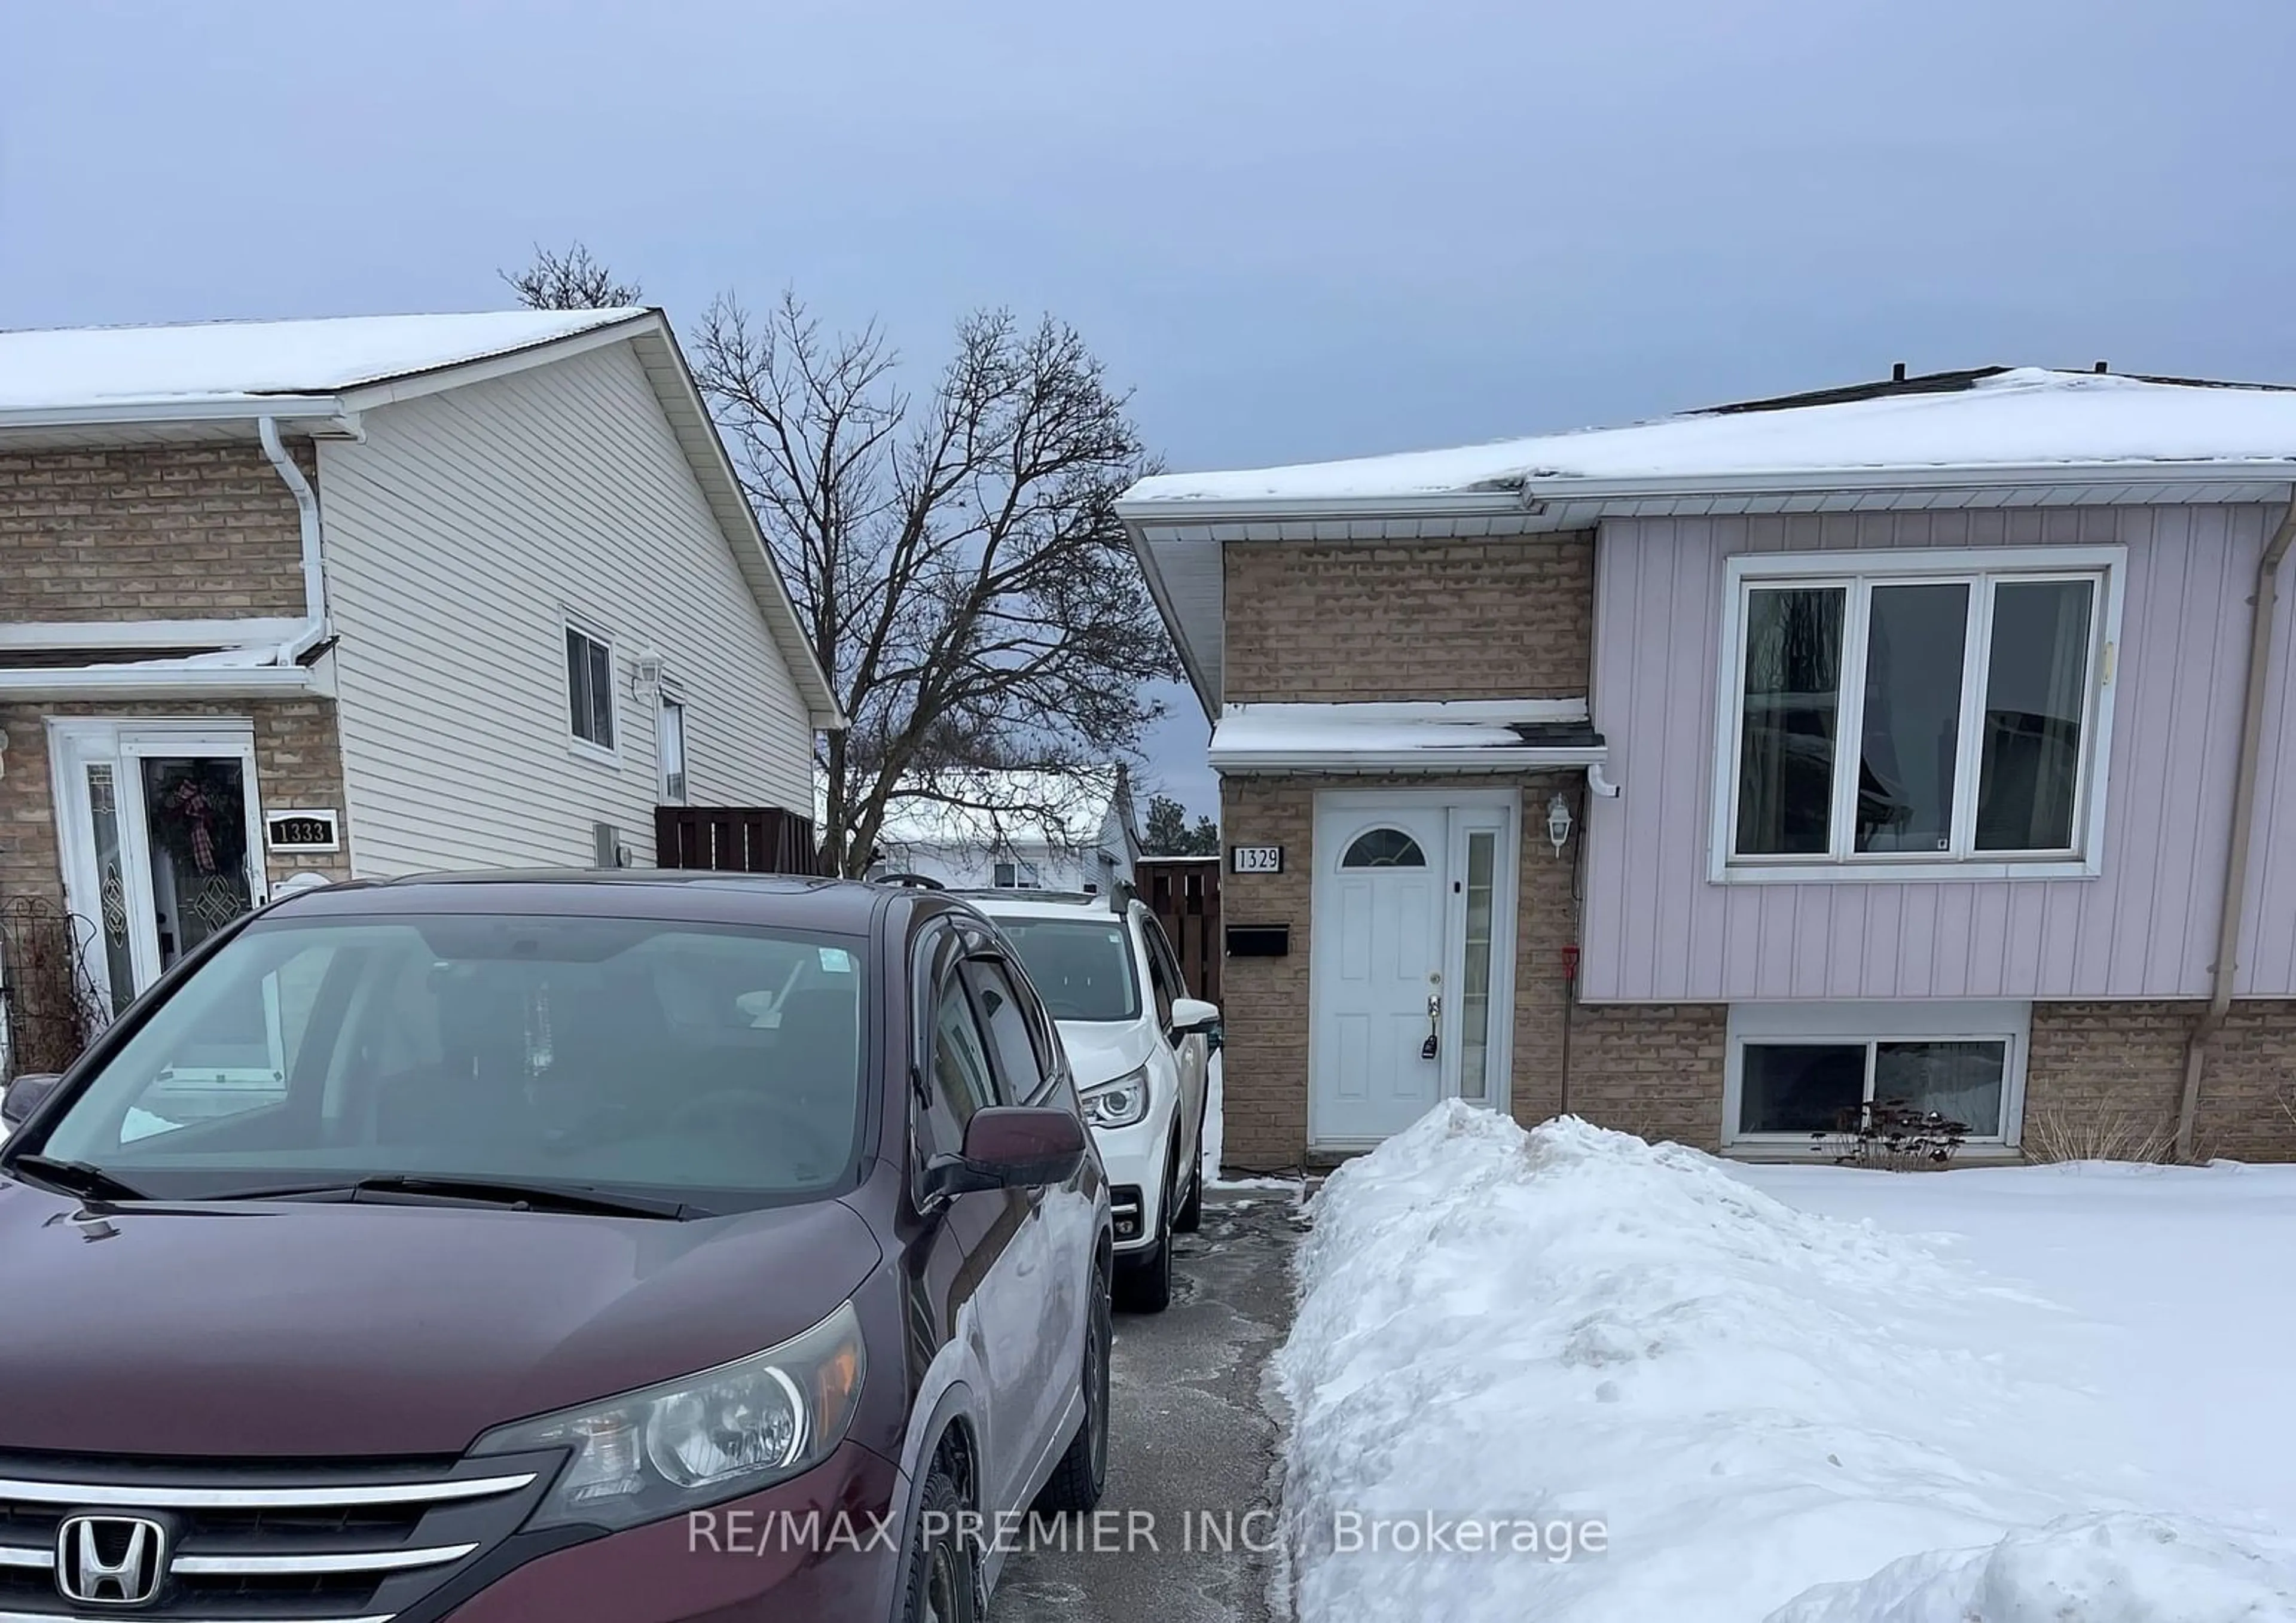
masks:
[[[1316,799],[1309,1141],[1364,1148],[1444,1097],[1506,1106],[1513,790]]]

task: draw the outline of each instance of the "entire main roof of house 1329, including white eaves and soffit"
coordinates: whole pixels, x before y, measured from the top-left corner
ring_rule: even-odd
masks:
[[[1619,429],[1235,473],[1162,473],[1116,510],[1205,716],[1228,542],[1414,542],[1605,517],[2287,500],[2296,390],[1975,367]]]

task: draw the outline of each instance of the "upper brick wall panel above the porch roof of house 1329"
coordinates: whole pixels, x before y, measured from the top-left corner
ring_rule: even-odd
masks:
[[[1593,535],[1231,542],[1228,702],[1575,698],[1593,638]]]

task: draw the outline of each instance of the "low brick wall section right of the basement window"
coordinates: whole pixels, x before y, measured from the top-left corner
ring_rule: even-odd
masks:
[[[2170,1125],[2183,1045],[2204,1005],[2034,1003],[2025,1063],[2025,1136],[2046,1118]],[[2195,1148],[2241,1162],[2296,1159],[2296,1003],[2239,1001],[2209,1045]]]

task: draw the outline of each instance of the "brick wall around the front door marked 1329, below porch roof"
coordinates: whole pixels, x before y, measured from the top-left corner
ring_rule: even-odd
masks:
[[[1527,817],[1545,817],[1561,790],[1573,806],[1584,794],[1577,774],[1522,774],[1453,781],[1522,792]],[[1281,875],[1224,875],[1224,925],[1290,925],[1286,957],[1231,957],[1221,964],[1226,1026],[1226,1150],[1235,1168],[1297,1166],[1306,1155],[1309,962],[1316,872],[1318,790],[1426,790],[1426,778],[1226,778],[1221,838],[1231,845],[1281,845]],[[1515,1058],[1513,1111],[1534,1123],[1561,1102],[1564,946],[1577,939],[1570,861],[1557,859],[1543,833],[1522,845],[1515,895]],[[1720,1070],[1715,1072],[1720,1077]],[[1720,1084],[1717,1084],[1720,1086]]]

